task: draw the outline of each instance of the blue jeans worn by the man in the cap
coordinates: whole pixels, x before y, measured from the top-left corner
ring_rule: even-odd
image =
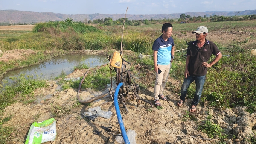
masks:
[[[206,76],[193,76],[190,75],[187,77],[187,79],[185,78],[181,87],[181,96],[180,99],[185,102],[186,99],[186,95],[187,95],[187,88],[189,88],[189,85],[195,81],[195,85],[196,85],[196,90],[195,90],[195,95],[194,95],[194,99],[192,102],[192,105],[197,106],[201,95],[202,95],[202,90],[203,90],[203,86],[204,86],[204,82],[205,82]]]

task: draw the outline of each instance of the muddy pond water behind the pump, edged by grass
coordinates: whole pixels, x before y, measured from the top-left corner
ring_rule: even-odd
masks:
[[[64,55],[42,62],[37,65],[9,71],[3,76],[2,83],[4,80],[7,80],[8,83],[10,83],[12,82],[12,80],[10,80],[10,77],[17,77],[20,76],[20,74],[30,76],[33,75],[34,78],[37,78],[38,75],[43,79],[50,80],[59,76],[62,71],[64,71],[66,75],[72,73],[73,68],[76,67],[79,63],[87,64],[89,67],[96,67],[106,64],[108,62],[109,61],[107,59],[107,56],[103,55]]]

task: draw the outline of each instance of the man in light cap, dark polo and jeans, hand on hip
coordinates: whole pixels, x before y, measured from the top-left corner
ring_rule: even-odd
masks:
[[[187,47],[186,69],[184,73],[185,79],[183,81],[181,96],[177,106],[183,105],[187,95],[187,88],[189,88],[189,85],[195,81],[196,91],[192,106],[189,110],[190,112],[195,112],[202,94],[207,68],[212,67],[212,65],[218,62],[219,59],[221,59],[222,54],[213,42],[206,39],[206,36],[208,35],[207,27],[200,26],[192,33],[195,33],[196,41],[190,42]],[[216,57],[212,62],[207,63],[211,55],[215,55]]]

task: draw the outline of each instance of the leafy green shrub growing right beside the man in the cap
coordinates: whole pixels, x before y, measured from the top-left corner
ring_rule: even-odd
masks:
[[[209,69],[202,95],[212,102],[211,106],[247,106],[248,112],[254,112],[255,76],[256,57],[232,52]]]

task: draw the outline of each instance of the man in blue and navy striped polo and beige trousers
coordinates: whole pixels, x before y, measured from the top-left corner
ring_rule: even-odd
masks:
[[[174,59],[174,40],[172,35],[172,24],[165,23],[162,26],[162,35],[154,41],[154,71],[156,72],[154,98],[155,105],[161,106],[159,99],[167,100],[163,95],[165,83],[167,82],[171,62]]]

